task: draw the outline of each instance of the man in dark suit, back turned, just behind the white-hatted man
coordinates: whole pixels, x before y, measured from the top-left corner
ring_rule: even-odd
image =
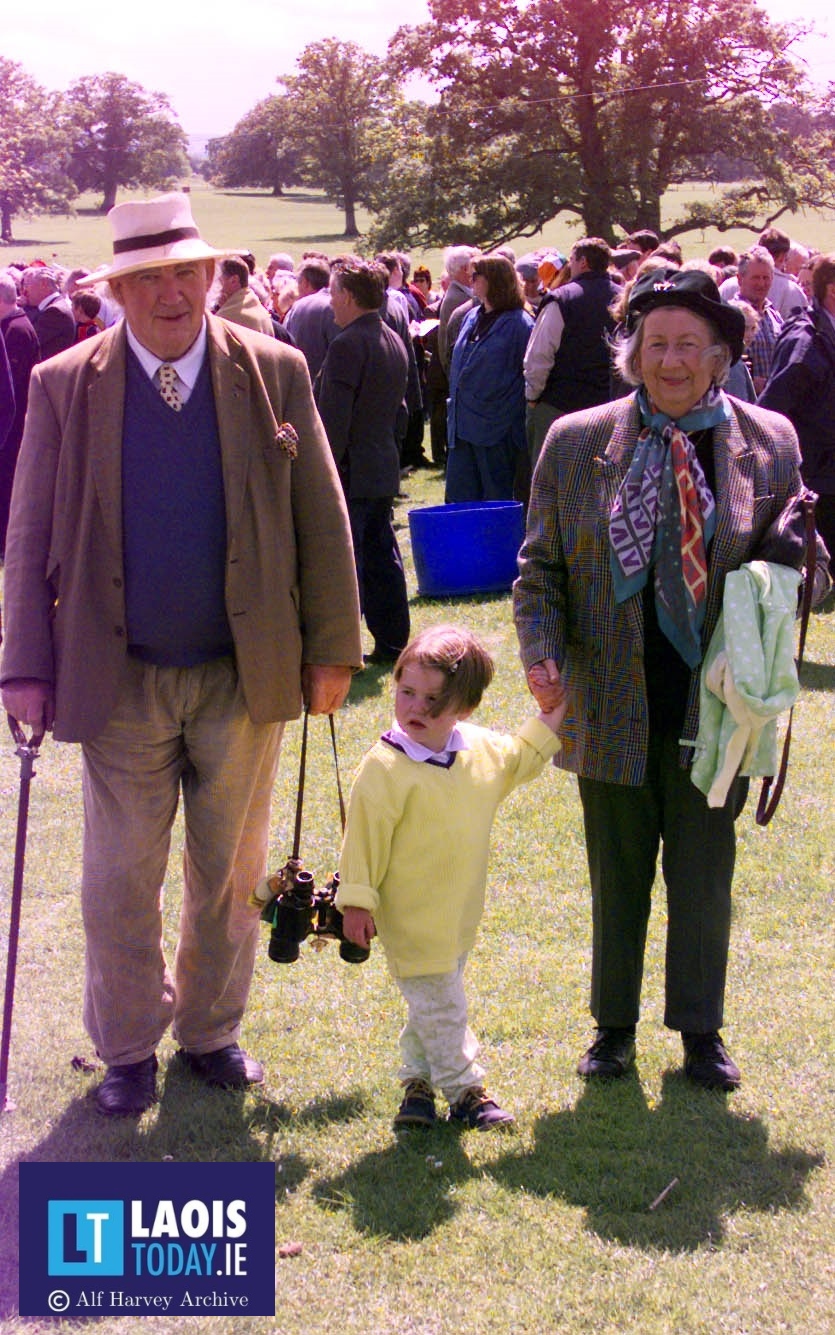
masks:
[[[347,498],[369,661],[393,663],[409,639],[406,577],[391,506],[399,487],[407,359],[386,323],[386,270],[346,255],[334,262],[330,299],[339,332],[317,380],[317,405]]]

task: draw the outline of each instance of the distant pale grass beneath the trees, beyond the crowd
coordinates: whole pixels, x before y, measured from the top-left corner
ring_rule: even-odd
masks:
[[[667,198],[667,216],[677,216],[683,206],[692,199],[703,199],[709,186],[679,186]],[[266,264],[274,251],[289,251],[298,259],[309,248],[323,250],[338,255],[351,243],[346,243],[343,215],[319,195],[309,191],[289,191],[281,199],[274,199],[265,191],[215,191],[199,178],[192,182],[192,207],[202,235],[216,247],[248,248],[259,264]],[[120,196],[120,199],[127,196]],[[139,196],[143,198],[143,196]],[[96,264],[110,259],[111,236],[107,219],[95,211],[94,196],[83,196],[73,218],[36,216],[15,220],[16,240],[0,246],[0,266],[9,260],[31,260],[40,256],[72,268]],[[359,227],[367,224],[367,218],[358,215]],[[779,226],[798,240],[822,251],[835,250],[835,216],[832,214],[786,215]],[[557,218],[544,231],[530,238],[517,238],[517,255],[536,250],[537,246],[556,246],[568,252],[581,235],[580,224]],[[713,246],[733,246],[744,250],[755,240],[752,232],[728,231],[721,235],[713,228],[688,232],[680,238],[685,258],[705,256]],[[440,250],[414,251],[414,264],[426,263],[437,280],[442,268]]]

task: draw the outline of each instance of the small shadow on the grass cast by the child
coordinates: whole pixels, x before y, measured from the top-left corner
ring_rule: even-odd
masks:
[[[456,1214],[456,1185],[476,1176],[458,1133],[446,1123],[403,1132],[389,1149],[366,1155],[338,1177],[322,1177],[313,1199],[349,1210],[374,1238],[418,1242]]]

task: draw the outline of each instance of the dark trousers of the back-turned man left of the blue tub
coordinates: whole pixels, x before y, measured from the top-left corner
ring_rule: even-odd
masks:
[[[351,499],[351,522],[359,605],[381,654],[399,654],[409,643],[406,575],[391,523],[391,497]]]

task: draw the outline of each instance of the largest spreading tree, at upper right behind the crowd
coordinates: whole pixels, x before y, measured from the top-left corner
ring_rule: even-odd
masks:
[[[799,148],[770,115],[803,105],[792,63],[804,29],[755,0],[429,0],[390,63],[440,91],[420,146],[377,199],[377,240],[498,244],[560,212],[615,240],[651,227],[759,231],[787,210],[828,207],[828,155]],[[688,206],[665,227],[671,186],[704,179],[711,155],[748,180]]]

